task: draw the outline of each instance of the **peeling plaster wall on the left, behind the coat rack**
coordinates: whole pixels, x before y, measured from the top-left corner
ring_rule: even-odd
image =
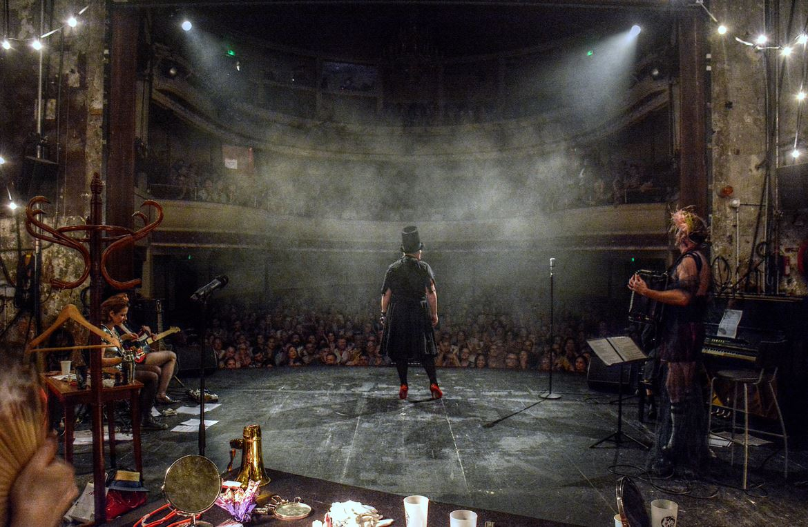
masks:
[[[103,0],[91,0],[90,9],[80,17],[75,29],[64,27],[45,40],[48,46],[44,65],[44,123],[43,136],[48,139],[46,157],[57,161],[59,169],[55,188],[49,198],[52,204],[44,206],[48,215],[45,222],[52,226],[83,224],[89,208],[89,182],[102,170],[102,117],[103,117],[103,51],[106,31],[106,9]],[[29,39],[40,34],[40,2],[38,0],[11,0],[9,28],[15,39]],[[56,0],[53,5],[53,23],[46,29],[61,25],[62,19],[76,8],[74,2]],[[46,11],[46,15],[49,12]],[[62,40],[62,32],[64,40]],[[0,151],[6,160],[0,172],[2,190],[6,182],[14,182],[15,199],[27,203],[29,177],[23,174],[23,159],[32,155],[30,136],[36,131],[36,82],[38,56],[26,43],[14,42],[11,52],[0,56]],[[3,50],[4,51],[4,50]],[[62,53],[63,52],[63,53]],[[48,62],[49,60],[49,62]],[[60,75],[61,64],[61,75]],[[57,100],[60,104],[57,105]],[[57,112],[58,108],[58,112]],[[57,117],[59,127],[57,134]],[[36,186],[34,187],[37,188]],[[5,203],[3,202],[5,208]],[[24,211],[17,217],[6,210],[0,215],[0,257],[16,282],[19,249],[32,253],[34,242],[25,231]],[[82,274],[83,263],[78,253],[60,245],[42,245],[41,299],[44,327],[53,320],[66,303],[81,305],[77,288],[58,291],[50,287],[51,278],[73,280]],[[89,282],[86,282],[85,286]],[[14,304],[14,288],[0,275],[0,331],[9,326],[19,312]],[[21,316],[3,337],[5,349],[21,350],[25,333],[33,335],[36,328],[28,328],[27,312]],[[29,336],[30,337],[30,336]]]

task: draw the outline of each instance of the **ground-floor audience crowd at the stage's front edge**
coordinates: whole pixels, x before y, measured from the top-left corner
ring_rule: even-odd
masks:
[[[351,297],[297,290],[274,291],[265,304],[213,303],[206,346],[223,369],[389,366],[379,353],[376,296],[370,287]],[[442,300],[436,366],[444,368],[586,374],[587,339],[617,333],[625,322],[620,308],[576,299],[574,310],[556,310],[551,337],[546,302],[535,298],[448,291]]]

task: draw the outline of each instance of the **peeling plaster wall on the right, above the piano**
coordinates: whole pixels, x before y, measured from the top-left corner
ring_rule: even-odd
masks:
[[[797,2],[795,21],[805,19],[806,4]],[[778,42],[796,36],[787,31],[787,19],[791,2],[781,2],[782,34]],[[757,243],[766,239],[766,210],[760,204],[771,203],[772,195],[764,191],[766,161],[766,72],[764,52],[739,44],[734,36],[747,41],[755,40],[764,28],[763,0],[717,0],[710,9],[730,27],[730,33],[719,36],[713,26],[709,35],[712,53],[712,228],[713,257],[724,257],[729,262],[734,276],[747,273],[748,261],[755,241],[755,225],[760,212],[760,227]],[[788,34],[786,37],[785,35]],[[775,37],[776,38],[776,37]],[[772,59],[779,61],[779,53],[771,52]],[[800,61],[795,56],[794,59]],[[787,63],[787,62],[786,62]],[[799,62],[802,64],[802,62]],[[795,63],[796,64],[796,63]],[[787,94],[788,86],[798,85],[800,67],[786,68],[784,90],[781,96],[781,145],[785,148],[793,140],[796,107]],[[796,93],[796,90],[793,90]],[[804,119],[803,119],[804,120]],[[790,151],[790,148],[788,148]],[[786,150],[781,158],[785,158]],[[789,161],[790,158],[789,158]],[[721,195],[722,189],[731,186],[729,197]],[[772,190],[772,189],[769,189]],[[731,206],[731,199],[739,199],[740,206]],[[808,198],[806,198],[808,199]],[[737,211],[737,236],[736,236]],[[802,220],[786,218],[781,224],[781,249],[799,246],[806,237]],[[773,240],[772,240],[773,241]],[[786,253],[796,261],[796,253]],[[760,258],[755,258],[755,266]],[[795,267],[796,265],[793,264]],[[760,269],[763,269],[761,266]],[[753,278],[752,282],[755,282]],[[762,287],[762,283],[761,283]],[[782,278],[780,292],[789,295],[805,295],[806,282],[793,272]]]

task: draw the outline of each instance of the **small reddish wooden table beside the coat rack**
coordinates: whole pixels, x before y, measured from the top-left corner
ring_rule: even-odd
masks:
[[[42,382],[48,391],[59,399],[65,407],[65,461],[73,463],[74,422],[76,419],[74,407],[77,404],[91,404],[92,391],[90,387],[79,390],[65,381],[53,379],[48,375],[41,375]],[[107,429],[109,430],[109,461],[116,466],[115,455],[115,401],[129,399],[129,408],[132,413],[132,439],[135,450],[135,469],[143,473],[143,460],[141,458],[141,416],[139,395],[143,384],[134,381],[132,384],[123,384],[115,387],[104,387],[101,390],[101,403],[107,407]],[[102,440],[103,441],[103,440]],[[103,446],[102,446],[103,448]]]

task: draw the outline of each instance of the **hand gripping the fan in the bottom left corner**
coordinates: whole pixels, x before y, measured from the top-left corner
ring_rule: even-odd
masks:
[[[73,467],[56,456],[55,437],[45,439],[11,488],[11,527],[55,527],[78,496]]]

